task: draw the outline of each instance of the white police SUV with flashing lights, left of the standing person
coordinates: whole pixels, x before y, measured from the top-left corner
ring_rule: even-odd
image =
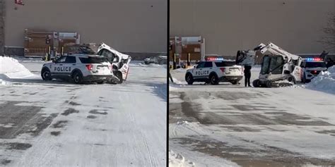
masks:
[[[206,82],[218,85],[218,82],[231,82],[236,85],[243,78],[242,66],[236,66],[235,61],[201,61],[194,68],[186,71],[187,84]]]

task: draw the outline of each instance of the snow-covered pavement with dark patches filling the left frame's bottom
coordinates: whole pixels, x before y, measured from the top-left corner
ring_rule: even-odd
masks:
[[[0,166],[165,166],[166,67],[132,63],[122,85],[0,85]]]

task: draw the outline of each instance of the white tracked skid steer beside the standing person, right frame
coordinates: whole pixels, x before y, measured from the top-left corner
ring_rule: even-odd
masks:
[[[254,50],[238,51],[236,63],[252,66],[256,52],[262,58],[259,78],[252,82],[254,87],[283,87],[301,82],[300,56],[290,54],[273,43],[260,44]]]

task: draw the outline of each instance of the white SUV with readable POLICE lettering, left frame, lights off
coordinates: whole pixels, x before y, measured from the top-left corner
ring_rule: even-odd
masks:
[[[52,63],[45,63],[42,66],[41,76],[43,80],[57,78],[73,80],[76,84],[83,82],[101,84],[115,80],[111,69],[111,64],[103,56],[78,54],[61,56]]]

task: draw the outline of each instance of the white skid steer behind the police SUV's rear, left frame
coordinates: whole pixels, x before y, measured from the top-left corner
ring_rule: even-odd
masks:
[[[112,64],[112,73],[119,78],[118,83],[122,83],[124,80],[127,80],[131,56],[122,54],[105,43],[100,44],[100,47],[98,48],[98,55],[105,56]]]

